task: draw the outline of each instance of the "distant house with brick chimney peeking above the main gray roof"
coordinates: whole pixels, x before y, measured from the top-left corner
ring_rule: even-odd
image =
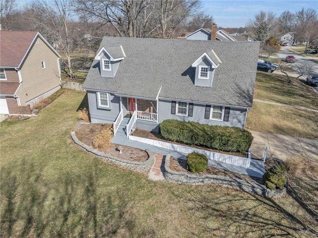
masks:
[[[201,28],[195,32],[186,36],[187,40],[217,40],[217,41],[237,41],[235,37],[231,36],[224,30],[218,30],[216,25],[213,25],[211,29]]]

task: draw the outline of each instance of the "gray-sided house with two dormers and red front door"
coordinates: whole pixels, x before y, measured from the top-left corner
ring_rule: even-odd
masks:
[[[104,37],[83,83],[92,123],[137,113],[137,128],[165,119],[244,128],[259,42]]]

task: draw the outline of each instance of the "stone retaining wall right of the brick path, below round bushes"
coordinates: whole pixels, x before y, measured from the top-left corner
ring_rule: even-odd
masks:
[[[286,188],[283,190],[270,190],[267,189],[265,185],[248,182],[242,179],[233,179],[225,176],[219,175],[194,175],[185,172],[172,171],[169,168],[170,165],[170,155],[168,154],[165,158],[163,177],[175,183],[183,184],[218,184],[222,186],[232,187],[238,190],[243,190],[246,192],[255,193],[265,197],[279,198],[286,194]]]

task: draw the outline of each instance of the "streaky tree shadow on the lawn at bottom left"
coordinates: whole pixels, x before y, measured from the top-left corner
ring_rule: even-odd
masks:
[[[135,222],[127,212],[126,199],[121,194],[97,193],[94,171],[80,179],[67,172],[57,178],[63,181],[61,186],[54,187],[38,169],[28,162],[19,176],[1,173],[1,237],[131,234]]]

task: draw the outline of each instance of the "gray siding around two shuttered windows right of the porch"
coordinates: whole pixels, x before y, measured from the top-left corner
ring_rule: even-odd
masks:
[[[180,116],[171,114],[171,101],[159,100],[159,123],[166,119],[176,119],[183,121],[196,121],[201,124],[236,126],[244,128],[246,110],[231,107],[229,121],[219,121],[204,118],[205,106],[206,105],[194,103],[193,117]]]

